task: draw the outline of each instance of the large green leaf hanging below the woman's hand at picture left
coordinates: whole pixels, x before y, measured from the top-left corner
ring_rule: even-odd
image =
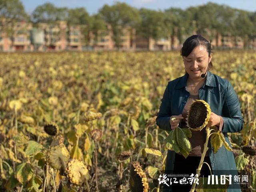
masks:
[[[191,138],[192,133],[188,128],[179,128],[172,130],[164,140],[168,150],[174,150],[176,153],[181,153],[187,158],[191,149],[191,143],[188,138]]]

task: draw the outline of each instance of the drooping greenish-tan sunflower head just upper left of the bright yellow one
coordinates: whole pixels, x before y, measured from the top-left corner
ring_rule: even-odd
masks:
[[[63,143],[58,146],[52,146],[47,151],[47,161],[54,169],[65,169],[70,154]]]

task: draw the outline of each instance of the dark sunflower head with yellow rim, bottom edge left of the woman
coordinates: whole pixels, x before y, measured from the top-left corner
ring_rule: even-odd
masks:
[[[132,192],[148,192],[148,180],[138,161],[130,164],[130,189]]]

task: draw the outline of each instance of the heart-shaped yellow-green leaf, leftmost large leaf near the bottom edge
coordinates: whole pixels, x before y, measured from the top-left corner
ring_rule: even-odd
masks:
[[[30,163],[26,162],[17,166],[16,178],[20,183],[24,184],[29,181],[32,178],[32,175],[33,169]]]

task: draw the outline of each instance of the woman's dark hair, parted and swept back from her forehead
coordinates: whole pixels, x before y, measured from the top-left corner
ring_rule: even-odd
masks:
[[[182,58],[187,57],[198,45],[204,46],[208,52],[208,56],[210,56],[210,54],[212,53],[211,43],[203,38],[201,35],[192,35],[187,38],[186,41],[183,43],[183,46],[180,50],[180,55],[182,55]],[[209,69],[210,68],[212,68],[212,61],[210,61]]]

